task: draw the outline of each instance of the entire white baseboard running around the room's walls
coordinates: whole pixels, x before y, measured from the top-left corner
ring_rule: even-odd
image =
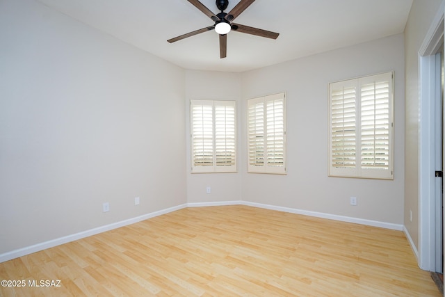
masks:
[[[63,236],[58,239],[52,239],[50,241],[44,241],[42,243],[37,243],[33,246],[19,248],[18,250],[12,250],[10,252],[5,252],[3,254],[0,254],[0,263],[6,262],[10,259],[22,257],[24,255],[29,255],[33,252],[39,252],[40,250],[44,250],[47,248],[53,248],[54,246],[59,246],[60,244],[63,244],[63,243],[68,243],[70,241],[83,239],[88,236],[92,236],[92,235],[106,232],[109,230],[117,229],[119,227],[124,227],[127,225],[138,223],[141,220],[147,220],[148,218],[154,218],[155,216],[161,216],[163,214],[168,214],[172,211],[177,211],[179,209],[184,209],[186,207],[213,207],[213,206],[237,205],[237,204],[251,206],[251,207],[259,207],[259,208],[264,208],[264,209],[271,209],[271,210],[276,210],[276,211],[284,211],[284,212],[289,212],[291,214],[302,214],[305,216],[328,218],[330,220],[341,220],[343,222],[357,223],[357,224],[369,225],[369,226],[373,226],[373,227],[382,227],[382,228],[391,229],[391,230],[399,230],[399,231],[405,230],[405,234],[407,234],[408,241],[410,241],[410,244],[414,250],[414,254],[416,255],[416,257],[419,257],[418,252],[414,246],[414,243],[412,243],[411,236],[407,233],[407,231],[403,225],[378,222],[375,220],[365,220],[362,218],[351,218],[348,216],[337,216],[334,214],[324,214],[324,213],[316,212],[316,211],[305,211],[305,210],[293,209],[293,208],[289,208],[289,207],[278,207],[278,206],[269,205],[269,204],[261,204],[261,203],[256,203],[256,202],[248,202],[248,201],[238,200],[238,201],[221,201],[221,202],[192,202],[192,203],[180,204],[176,207],[170,207],[168,209],[161,209],[160,211],[154,211],[152,213],[145,214],[143,216],[137,216],[135,218],[129,218],[127,220],[121,220],[120,222],[116,222],[113,224],[104,225],[102,227],[97,227],[97,228],[93,228],[93,229],[86,230],[83,232]]]

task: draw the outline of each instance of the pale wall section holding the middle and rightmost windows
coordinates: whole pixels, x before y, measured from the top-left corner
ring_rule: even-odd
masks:
[[[243,173],[243,200],[403,224],[403,44],[399,34],[243,73],[244,106],[250,97],[286,91],[288,152],[286,176]],[[394,180],[328,177],[328,84],[391,70],[395,72]],[[244,121],[243,138],[245,126]],[[245,172],[245,145],[241,152]],[[350,205],[351,196],[357,197],[357,206]]]

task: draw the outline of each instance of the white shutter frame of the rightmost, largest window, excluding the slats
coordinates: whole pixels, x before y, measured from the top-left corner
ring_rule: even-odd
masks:
[[[373,92],[373,99],[369,99],[369,95],[364,95],[365,90],[363,89],[364,86],[370,86],[375,83],[383,83],[380,85],[375,85],[372,90],[369,90],[369,92]],[[378,97],[378,90],[385,89],[384,83],[387,83],[387,93],[383,92],[382,94],[387,95],[386,97]],[[333,135],[334,132],[334,123],[333,123],[333,91],[336,90],[336,92],[341,92],[342,90],[339,90],[340,88],[343,88],[343,106],[341,106],[340,109],[343,108],[343,137],[346,129],[345,127],[349,127],[348,131],[352,131],[351,127],[352,125],[355,125],[354,132],[355,132],[355,144],[354,145],[345,145],[345,143],[352,143],[353,138],[352,133],[349,134],[349,138],[343,139],[343,151],[350,151],[353,152],[353,154],[337,154],[337,156],[340,156],[339,158],[334,157],[334,143],[333,138],[336,136]],[[345,99],[345,93],[344,88],[355,88],[355,115],[353,115],[353,111],[350,109],[350,106],[346,106],[348,101]],[[394,71],[391,72],[385,72],[380,74],[373,74],[366,77],[358,77],[355,79],[348,79],[345,81],[337,81],[333,83],[329,83],[328,86],[328,98],[329,98],[329,108],[328,108],[328,125],[329,125],[329,143],[328,143],[328,175],[330,177],[356,177],[356,178],[366,178],[366,179],[394,179]],[[339,102],[341,99],[339,99]],[[387,102],[386,102],[387,101]],[[364,102],[371,102],[374,104],[374,109],[365,111],[366,105],[362,104]],[[371,104],[371,105],[372,105]],[[386,105],[387,104],[387,108]],[[382,111],[387,109],[387,113],[383,113]],[[347,111],[346,111],[347,110]],[[369,128],[369,125],[365,125],[366,120],[366,113],[371,112],[373,115],[373,120],[371,120],[371,126],[373,125],[373,129]],[[350,121],[350,119],[346,119],[348,117],[344,116],[344,114],[348,113],[348,117],[352,118],[355,117],[354,123]],[[381,116],[380,116],[381,115]],[[387,116],[387,118],[384,118],[384,116]],[[350,124],[347,124],[346,122],[350,122]],[[340,124],[341,125],[341,124]],[[337,126],[338,127],[338,126]],[[367,129],[363,129],[362,127],[367,127]],[[339,128],[337,128],[339,129]],[[336,132],[342,131],[339,129]],[[364,152],[365,147],[367,145],[364,145],[364,139],[366,139],[366,136],[364,137],[365,131],[369,131],[369,134],[374,134],[373,138],[371,139],[371,143],[373,143],[373,148],[369,150],[369,155],[371,157],[367,157],[367,159],[374,160],[375,165],[364,165],[366,163]],[[386,132],[387,131],[387,132]],[[368,136],[369,136],[368,134]],[[349,148],[348,148],[349,147]],[[350,147],[354,147],[354,150]],[[339,150],[339,149],[337,149]],[[348,163],[348,156],[354,155],[354,160],[350,161]],[[346,163],[348,165],[344,165],[341,167],[334,166],[334,163],[337,159],[341,159],[341,156],[344,157]],[[373,157],[372,157],[373,156]],[[377,160],[377,161],[375,161]],[[380,162],[380,163],[379,163]],[[387,162],[387,165],[386,165]],[[341,163],[341,162],[340,162]],[[354,165],[352,165],[352,163]]]

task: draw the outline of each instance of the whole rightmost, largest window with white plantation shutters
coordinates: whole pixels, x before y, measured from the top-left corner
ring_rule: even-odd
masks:
[[[393,74],[330,83],[330,176],[394,178]]]

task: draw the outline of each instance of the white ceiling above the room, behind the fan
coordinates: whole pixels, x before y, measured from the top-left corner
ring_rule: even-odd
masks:
[[[38,0],[100,31],[193,70],[243,72],[405,30],[412,0],[257,0],[234,22],[280,33],[277,40],[230,32],[227,58],[214,31],[166,40],[213,25],[186,0]],[[215,0],[201,0],[218,13]],[[229,1],[229,12],[239,0]]]

